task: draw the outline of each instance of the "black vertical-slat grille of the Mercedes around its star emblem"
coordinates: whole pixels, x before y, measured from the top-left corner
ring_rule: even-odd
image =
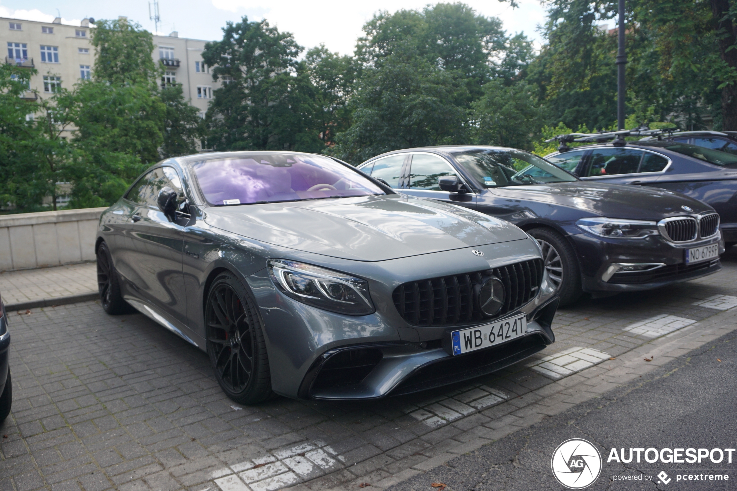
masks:
[[[532,300],[542,283],[541,259],[500,266],[495,269],[411,281],[394,290],[394,305],[408,324],[427,327],[465,325],[485,317],[475,299],[475,286],[489,276],[504,285],[504,305],[494,317],[517,310]]]

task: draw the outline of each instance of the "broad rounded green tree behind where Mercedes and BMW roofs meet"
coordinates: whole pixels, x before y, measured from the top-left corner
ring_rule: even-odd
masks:
[[[464,80],[417,56],[395,49],[380,68],[363,68],[351,107],[353,124],[328,153],[360,163],[411,146],[467,141],[468,98]]]

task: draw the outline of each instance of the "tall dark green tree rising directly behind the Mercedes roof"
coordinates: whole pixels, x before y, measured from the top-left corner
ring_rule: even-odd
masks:
[[[223,81],[206,118],[212,148],[322,148],[313,121],[315,89],[297,60],[301,51],[290,32],[246,17],[228,22],[223,40],[205,45],[203,60],[214,67],[213,79]]]

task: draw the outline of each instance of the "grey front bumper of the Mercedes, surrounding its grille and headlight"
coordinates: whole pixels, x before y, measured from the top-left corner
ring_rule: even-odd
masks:
[[[349,261],[307,252],[296,252],[287,257],[295,261],[349,272],[368,280],[376,311],[365,316],[337,314],[293,300],[274,287],[265,269],[248,276],[246,280],[254,294],[256,304],[259,305],[259,317],[264,326],[273,391],[290,398],[380,398],[396,389],[399,383],[416,373],[420,367],[436,364],[441,358],[450,357],[442,349],[441,342],[449,335],[451,328],[441,325],[423,327],[408,324],[400,316],[392,295],[397,286],[408,281],[493,269],[504,264],[539,258],[537,243],[528,238],[488,244],[474,249],[483,252],[483,256],[472,254],[472,248],[469,247],[377,262]],[[532,338],[536,331],[541,333],[534,343],[539,349],[553,342],[554,336],[552,331],[549,331],[549,326],[549,332],[542,326],[536,328],[540,321],[535,322],[534,317],[530,316],[534,316],[542,305],[549,303],[553,298],[553,286],[544,275],[537,295],[525,305],[516,308],[517,312],[528,314],[530,321],[528,328],[531,334],[528,337]],[[505,317],[512,314],[514,312],[509,312]],[[485,322],[489,321],[453,325],[452,330]],[[533,352],[528,350],[523,358]],[[324,356],[326,353],[329,353],[329,356]],[[346,353],[340,356],[349,358],[348,364],[343,369],[358,372],[360,376],[336,382],[339,387],[336,384],[325,384],[325,380],[313,384],[312,381],[318,381],[320,378],[316,376],[318,372],[326,369],[324,363],[329,359],[332,359],[332,362],[342,359],[338,356],[339,353]],[[501,360],[505,357],[497,358]],[[509,363],[515,361],[518,359],[510,360]],[[368,367],[370,370],[366,369],[367,365],[370,365]],[[483,370],[486,372],[498,370],[501,366],[486,367]],[[369,377],[368,372],[374,367],[378,367],[378,370],[372,372]],[[308,380],[308,375],[313,377],[312,381]],[[469,377],[478,375],[481,373]],[[364,378],[366,378],[364,386],[357,387]],[[319,394],[314,392],[317,389],[321,391]]]

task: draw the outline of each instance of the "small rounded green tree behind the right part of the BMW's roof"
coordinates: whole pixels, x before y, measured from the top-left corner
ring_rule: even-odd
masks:
[[[533,149],[542,118],[537,88],[525,82],[504,85],[492,80],[483,86],[483,96],[472,105],[472,134],[481,145]]]

